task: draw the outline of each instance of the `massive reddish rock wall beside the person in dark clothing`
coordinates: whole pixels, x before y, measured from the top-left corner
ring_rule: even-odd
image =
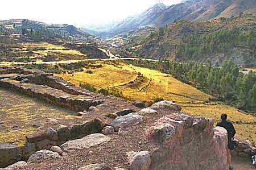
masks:
[[[222,127],[213,128],[211,119],[171,114],[148,129],[147,136],[159,146],[151,152],[147,169],[224,170],[227,167],[227,132]]]

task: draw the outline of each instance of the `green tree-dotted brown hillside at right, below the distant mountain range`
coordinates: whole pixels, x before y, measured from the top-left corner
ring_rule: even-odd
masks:
[[[243,67],[256,66],[256,16],[243,14],[230,19],[203,22],[181,20],[151,32],[140,42],[112,49],[124,57],[207,61],[231,59]],[[139,44],[139,45],[138,45]]]

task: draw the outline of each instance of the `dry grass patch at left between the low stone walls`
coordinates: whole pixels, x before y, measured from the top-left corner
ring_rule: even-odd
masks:
[[[25,135],[47,127],[47,118],[69,119],[72,111],[0,89],[0,142],[22,146]],[[32,127],[32,125],[39,127]]]

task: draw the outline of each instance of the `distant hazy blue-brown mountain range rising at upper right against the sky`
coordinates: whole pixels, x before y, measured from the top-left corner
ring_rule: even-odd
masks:
[[[172,6],[158,3],[139,15],[129,17],[115,26],[100,29],[94,34],[106,37],[129,32],[142,26],[163,27],[176,20],[209,20],[230,18],[240,13],[255,13],[255,0],[188,0]]]

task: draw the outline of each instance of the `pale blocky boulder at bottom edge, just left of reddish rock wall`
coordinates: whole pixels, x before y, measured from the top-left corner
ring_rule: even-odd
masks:
[[[148,170],[151,159],[148,151],[128,152],[128,162],[130,170]]]

